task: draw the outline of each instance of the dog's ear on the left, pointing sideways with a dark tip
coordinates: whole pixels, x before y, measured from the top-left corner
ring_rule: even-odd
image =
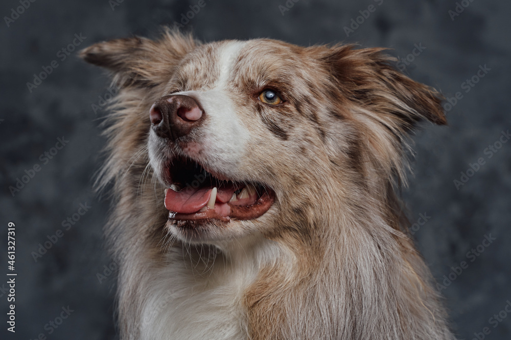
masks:
[[[81,50],[80,57],[111,71],[121,86],[151,86],[167,82],[194,47],[191,35],[165,30],[158,40],[133,37],[99,42]]]

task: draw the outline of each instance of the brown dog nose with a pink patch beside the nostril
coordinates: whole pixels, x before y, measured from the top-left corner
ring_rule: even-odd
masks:
[[[175,141],[200,124],[204,111],[194,98],[175,94],[156,100],[149,110],[149,118],[156,135]]]

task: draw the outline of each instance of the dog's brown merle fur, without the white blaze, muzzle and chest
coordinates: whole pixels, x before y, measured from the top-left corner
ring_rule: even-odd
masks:
[[[123,338],[137,337],[144,286],[169,251],[161,246],[164,187],[147,180],[147,112],[165,93],[207,89],[218,77],[221,44],[166,31],[155,41],[118,39],[82,51],[121,88],[107,117],[100,185],[114,183],[107,232],[121,263]],[[380,48],[269,39],[248,41],[238,57],[229,99],[254,98],[264,88],[286,99],[278,108],[238,102],[254,155],[240,171],[263,178],[277,197],[261,221],[246,226],[290,254],[261,264],[246,288],[247,338],[454,338],[396,194],[405,184],[409,133],[421,121],[446,124],[442,98],[391,63]]]

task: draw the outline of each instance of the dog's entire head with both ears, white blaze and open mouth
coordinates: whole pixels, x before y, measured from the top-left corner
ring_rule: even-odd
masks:
[[[166,219],[165,204],[167,227],[187,242],[307,233],[300,219],[378,205],[399,180],[415,123],[446,123],[438,93],[376,48],[201,44],[166,32],[101,42],[82,57],[121,88],[107,171],[135,157],[136,176],[120,185],[136,190],[149,163],[154,214]]]

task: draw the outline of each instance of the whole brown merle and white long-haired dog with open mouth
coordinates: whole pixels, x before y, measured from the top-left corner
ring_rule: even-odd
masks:
[[[442,96],[382,48],[166,29],[81,57],[119,88],[98,186],[123,340],[455,338],[398,197]]]

